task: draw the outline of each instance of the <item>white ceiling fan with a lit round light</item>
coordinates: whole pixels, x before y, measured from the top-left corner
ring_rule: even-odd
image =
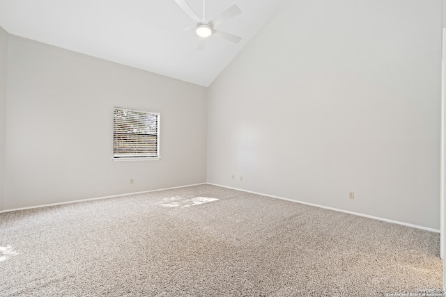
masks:
[[[183,8],[184,12],[189,15],[189,17],[194,20],[194,22],[197,22],[197,24],[193,28],[187,28],[190,30],[194,30],[195,33],[197,33],[198,35],[197,49],[204,49],[204,42],[206,38],[211,35],[229,40],[234,43],[238,43],[242,39],[239,36],[214,29],[215,26],[218,26],[222,24],[222,22],[225,22],[226,20],[242,13],[242,10],[240,10],[240,8],[238,8],[238,6],[236,6],[235,4],[230,8],[224,10],[223,13],[220,13],[220,15],[218,15],[211,21],[206,21],[204,14],[205,0],[203,0],[203,19],[200,19],[198,17],[197,13],[194,12],[194,10],[189,6],[186,0],[175,0],[175,2],[178,4],[178,6],[180,6],[180,8]]]

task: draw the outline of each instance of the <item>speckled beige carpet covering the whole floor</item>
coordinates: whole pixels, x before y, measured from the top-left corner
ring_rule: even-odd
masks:
[[[443,287],[439,245],[433,232],[191,186],[0,214],[0,295],[416,294]]]

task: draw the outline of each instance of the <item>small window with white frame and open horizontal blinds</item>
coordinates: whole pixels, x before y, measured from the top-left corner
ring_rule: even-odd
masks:
[[[114,159],[160,157],[160,113],[114,108]]]

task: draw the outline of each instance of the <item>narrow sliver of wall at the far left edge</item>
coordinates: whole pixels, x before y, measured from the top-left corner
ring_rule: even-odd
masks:
[[[5,193],[6,82],[8,74],[8,33],[0,27],[0,209]]]

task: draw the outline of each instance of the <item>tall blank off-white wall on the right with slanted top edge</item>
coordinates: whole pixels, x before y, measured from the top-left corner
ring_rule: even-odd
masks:
[[[440,22],[287,1],[208,89],[208,182],[438,230]]]

